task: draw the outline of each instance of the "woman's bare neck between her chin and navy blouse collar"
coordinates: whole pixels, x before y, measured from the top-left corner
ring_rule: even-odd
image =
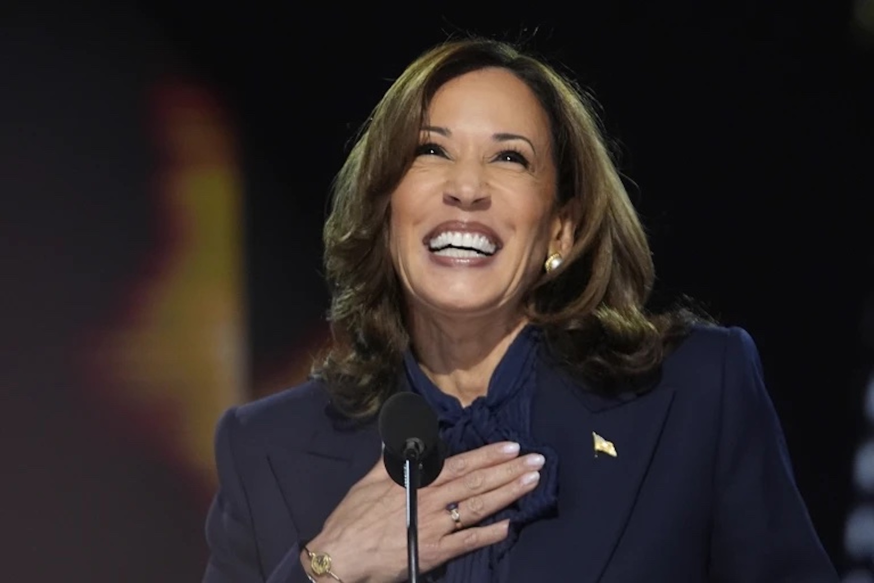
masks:
[[[413,353],[422,371],[440,391],[468,406],[489,391],[489,380],[527,320],[458,318],[413,314]]]

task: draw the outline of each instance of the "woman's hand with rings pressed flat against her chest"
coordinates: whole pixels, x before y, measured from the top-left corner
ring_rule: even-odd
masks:
[[[508,442],[454,455],[434,483],[419,490],[422,573],[506,538],[506,520],[474,524],[537,486],[543,456],[518,455],[518,445]],[[458,504],[460,525],[447,510],[450,503]],[[388,476],[382,460],[349,490],[308,547],[329,553],[331,570],[343,583],[406,580],[405,490]],[[309,571],[306,552],[302,562]]]

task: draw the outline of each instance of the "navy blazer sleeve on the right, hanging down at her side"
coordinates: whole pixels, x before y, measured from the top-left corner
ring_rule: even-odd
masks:
[[[730,330],[723,366],[710,580],[836,583],[745,330]]]

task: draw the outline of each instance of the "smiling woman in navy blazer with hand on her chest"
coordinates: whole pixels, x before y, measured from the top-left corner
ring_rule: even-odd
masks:
[[[837,580],[753,341],[644,311],[647,240],[569,81],[440,45],[334,188],[334,343],[307,384],[220,420],[205,581],[405,580],[373,423],[397,391],[451,454],[420,490],[429,580]]]

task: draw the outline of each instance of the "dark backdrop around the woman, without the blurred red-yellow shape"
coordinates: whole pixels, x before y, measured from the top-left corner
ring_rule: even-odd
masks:
[[[593,92],[652,238],[655,301],[689,294],[753,334],[824,545],[842,571],[870,566],[843,540],[867,500],[852,462],[874,364],[874,31],[850,3],[44,1],[0,13],[10,580],[184,581],[203,568],[212,482],[114,424],[70,356],[163,245],[143,105],[153,82],[208,87],[237,136],[237,400],[253,399],[295,383],[322,334],[325,193],[350,137],[403,66],[462,31],[524,39]]]

